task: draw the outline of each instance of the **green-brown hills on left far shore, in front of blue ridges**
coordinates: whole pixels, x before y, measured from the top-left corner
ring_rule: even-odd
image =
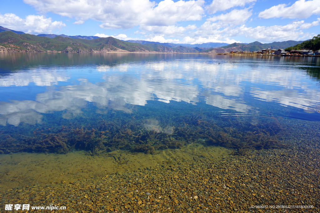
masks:
[[[0,33],[0,45],[16,51],[61,51],[61,52],[114,52],[125,50],[128,52],[197,52],[192,48],[170,48],[159,44],[143,45],[139,43],[124,42],[108,37],[92,40],[73,39],[57,36],[47,38],[31,34],[15,34],[11,31]]]

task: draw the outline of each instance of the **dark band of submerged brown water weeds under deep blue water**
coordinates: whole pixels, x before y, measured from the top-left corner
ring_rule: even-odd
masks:
[[[1,127],[0,153],[84,150],[90,155],[113,156],[115,150],[122,149],[156,154],[162,149],[202,142],[233,148],[235,155],[245,155],[249,149],[285,146],[277,118],[257,118],[257,122],[221,117],[221,109],[201,103],[169,105],[150,101],[144,107],[127,109],[129,113],[90,105],[76,117],[66,117],[63,111],[44,114],[43,125]]]

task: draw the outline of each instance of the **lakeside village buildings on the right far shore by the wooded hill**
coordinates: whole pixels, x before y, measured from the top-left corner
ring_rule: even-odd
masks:
[[[320,50],[291,50],[290,52],[284,49],[262,49],[261,51],[230,51],[231,54],[255,54],[255,55],[278,55],[278,56],[320,56]]]

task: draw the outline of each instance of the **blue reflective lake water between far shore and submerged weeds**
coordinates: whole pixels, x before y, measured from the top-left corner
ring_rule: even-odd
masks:
[[[189,121],[195,127],[320,121],[319,66],[319,57],[0,53],[0,127],[32,135],[71,123],[99,129],[99,117],[123,126],[130,118],[178,135],[188,113],[201,114]]]

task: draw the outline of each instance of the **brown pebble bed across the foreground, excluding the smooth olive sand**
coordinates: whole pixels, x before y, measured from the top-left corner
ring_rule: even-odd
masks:
[[[319,148],[293,147],[197,159],[186,166],[162,162],[101,178],[1,191],[0,206],[57,205],[67,209],[55,212],[78,213],[319,212],[319,156]]]

